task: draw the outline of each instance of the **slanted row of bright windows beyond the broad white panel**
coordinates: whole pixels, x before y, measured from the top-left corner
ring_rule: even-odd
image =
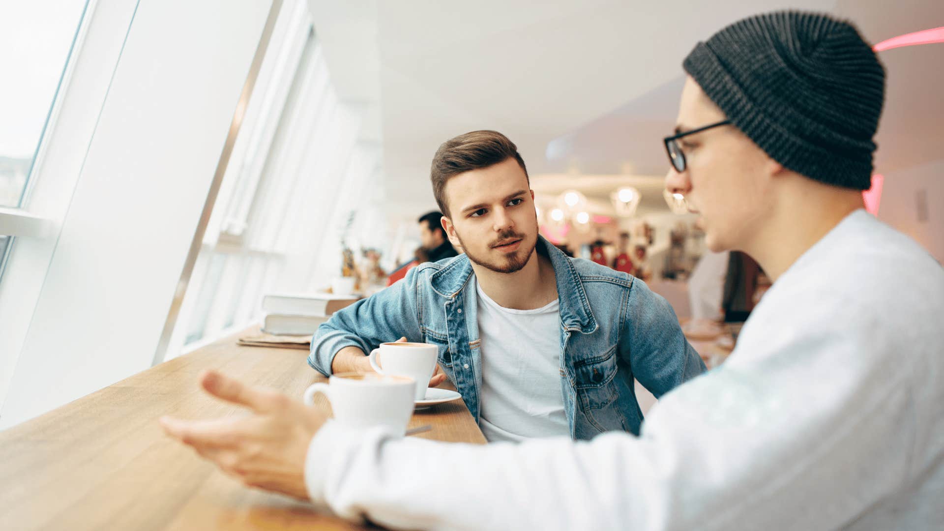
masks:
[[[266,292],[328,285],[321,263],[340,264],[335,233],[356,208],[346,191],[367,187],[376,166],[357,146],[359,126],[331,83],[307,3],[285,2],[158,361],[244,329]]]

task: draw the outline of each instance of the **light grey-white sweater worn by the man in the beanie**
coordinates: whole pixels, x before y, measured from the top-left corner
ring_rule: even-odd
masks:
[[[642,435],[487,446],[329,422],[312,500],[430,529],[944,527],[944,271],[865,211],[767,292]]]

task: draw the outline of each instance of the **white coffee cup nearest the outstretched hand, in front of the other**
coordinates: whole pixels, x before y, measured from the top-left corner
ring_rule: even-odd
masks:
[[[312,405],[314,395],[323,393],[334,419],[348,426],[369,428],[384,426],[402,436],[413,417],[412,379],[382,374],[333,374],[329,383],[319,382],[305,389],[305,403]]]

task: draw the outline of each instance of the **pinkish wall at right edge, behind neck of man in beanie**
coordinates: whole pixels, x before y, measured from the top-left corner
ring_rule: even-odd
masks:
[[[944,160],[885,174],[879,219],[944,264]]]

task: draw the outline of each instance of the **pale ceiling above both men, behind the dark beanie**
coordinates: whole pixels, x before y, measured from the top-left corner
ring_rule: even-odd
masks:
[[[829,10],[872,43],[944,26],[941,0],[309,0],[341,97],[378,144],[392,214],[434,206],[436,147],[469,130],[507,134],[542,174],[663,175],[683,57],[738,18]],[[890,50],[880,171],[939,158],[944,44]],[[580,177],[574,177],[579,180]],[[557,181],[555,181],[557,182]],[[579,181],[575,182],[579,184]]]

